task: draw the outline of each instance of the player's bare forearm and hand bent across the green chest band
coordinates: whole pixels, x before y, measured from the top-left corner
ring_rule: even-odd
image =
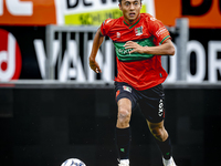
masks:
[[[133,49],[129,53],[147,53],[155,55],[173,55],[175,46],[170,39],[166,40],[161,45],[157,46],[141,46],[136,42],[128,41],[125,43],[125,49]]]

